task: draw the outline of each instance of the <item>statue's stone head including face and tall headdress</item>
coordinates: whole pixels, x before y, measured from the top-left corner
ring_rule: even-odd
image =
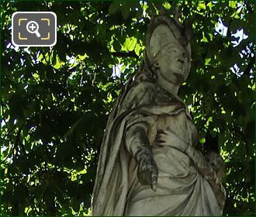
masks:
[[[189,75],[191,50],[185,29],[174,19],[158,16],[150,22],[146,40],[147,64],[156,75],[182,84]]]

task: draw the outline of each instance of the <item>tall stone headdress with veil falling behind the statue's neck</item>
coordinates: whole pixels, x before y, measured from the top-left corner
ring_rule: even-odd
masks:
[[[154,57],[159,50],[174,41],[184,47],[189,54],[190,68],[190,33],[191,27],[188,25],[182,26],[178,19],[171,18],[169,15],[154,15],[150,19],[150,24],[147,28],[146,49],[144,51],[144,59],[136,76],[137,79],[144,80],[147,77],[147,80],[155,80]]]

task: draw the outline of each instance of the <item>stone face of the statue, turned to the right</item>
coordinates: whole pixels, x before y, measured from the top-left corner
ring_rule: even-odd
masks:
[[[189,52],[178,43],[168,43],[157,56],[160,76],[172,84],[182,84],[189,75]]]

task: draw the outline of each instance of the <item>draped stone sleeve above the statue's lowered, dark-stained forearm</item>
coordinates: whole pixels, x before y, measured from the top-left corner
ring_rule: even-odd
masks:
[[[126,149],[135,157],[140,150],[150,150],[157,135],[154,115],[136,114],[126,124]]]

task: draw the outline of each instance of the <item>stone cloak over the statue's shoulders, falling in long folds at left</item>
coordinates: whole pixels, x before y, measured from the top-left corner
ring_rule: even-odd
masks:
[[[124,213],[129,190],[128,158],[131,157],[124,137],[127,126],[133,124],[130,120],[135,121],[136,115],[177,115],[182,111],[192,120],[180,99],[150,81],[130,78],[109,115],[103,136],[92,195],[92,215]]]

